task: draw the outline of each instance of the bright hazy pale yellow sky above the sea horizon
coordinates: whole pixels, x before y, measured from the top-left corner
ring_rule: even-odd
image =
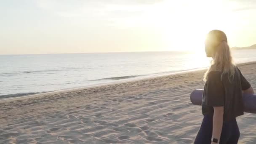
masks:
[[[256,0],[0,0],[0,54],[204,51],[256,43]]]

